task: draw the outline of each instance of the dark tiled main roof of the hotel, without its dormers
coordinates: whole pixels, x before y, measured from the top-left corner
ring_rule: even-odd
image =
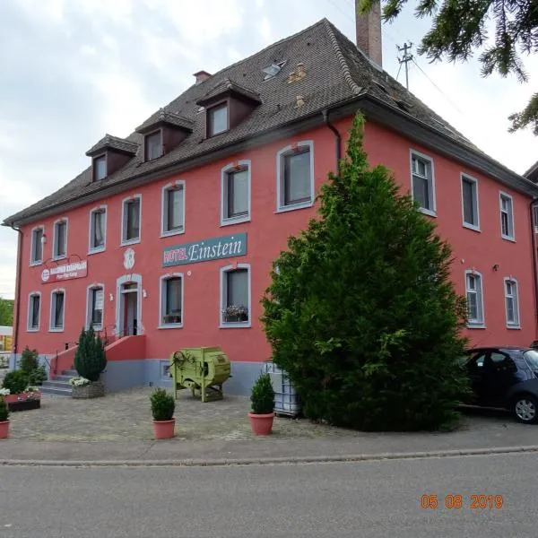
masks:
[[[286,61],[280,73],[264,80],[265,67]],[[302,63],[306,76],[289,82],[289,75]],[[377,83],[376,83],[377,82]],[[200,111],[197,101],[221,91],[222,85],[231,84],[238,91],[259,96],[261,104],[247,116],[239,126],[211,138],[205,138],[205,111]],[[380,85],[378,85],[380,84]],[[126,141],[139,146],[134,158],[126,166],[99,182],[92,182],[91,168],[20,213],[7,218],[4,223],[30,221],[39,218],[39,213],[50,206],[61,206],[74,199],[96,195],[96,191],[115,184],[128,184],[129,179],[156,173],[158,170],[191,161],[196,157],[228,146],[232,143],[249,141],[253,135],[272,132],[291,122],[306,118],[327,107],[331,107],[359,95],[369,94],[382,100],[386,106],[406,108],[407,113],[437,131],[441,131],[457,143],[478,150],[456,129],[449,126],[412,93],[386,74],[379,66],[369,61],[355,45],[337,30],[331,22],[323,19],[306,30],[282,39],[264,50],[213,74],[204,82],[184,91],[176,100],[158,110],[142,126],[150,125],[155,117],[181,117],[191,122],[192,134],[159,159],[143,161],[143,136],[131,134]],[[304,105],[296,107],[297,96],[302,96]],[[398,101],[401,101],[400,104]],[[406,103],[406,104],[402,104]],[[58,212],[61,209],[58,209]]]

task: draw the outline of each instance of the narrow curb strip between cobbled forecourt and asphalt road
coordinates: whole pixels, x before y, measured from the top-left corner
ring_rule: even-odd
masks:
[[[17,460],[0,459],[0,466],[42,466],[42,467],[222,467],[275,464],[319,464],[338,462],[371,462],[399,459],[422,459],[433,457],[488,456],[538,452],[538,445],[526,447],[464,448],[453,450],[431,450],[423,452],[387,452],[382,454],[351,454],[343,456],[282,456],[253,458],[215,459],[162,459],[162,460]]]

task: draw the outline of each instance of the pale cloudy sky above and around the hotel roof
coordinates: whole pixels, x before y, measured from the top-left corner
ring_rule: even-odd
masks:
[[[410,90],[482,151],[523,173],[538,160],[530,131],[508,134],[530,83],[492,75],[476,60],[432,65],[416,55],[429,28],[410,4],[383,26],[383,65],[414,44]],[[62,187],[90,164],[105,134],[125,137],[195,81],[327,17],[355,40],[354,0],[1,0],[0,221]],[[423,73],[422,73],[422,71]],[[404,82],[404,68],[398,80]],[[13,299],[17,233],[0,228],[0,297]]]

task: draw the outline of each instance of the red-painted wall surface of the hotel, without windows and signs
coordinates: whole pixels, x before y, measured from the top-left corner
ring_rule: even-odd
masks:
[[[351,119],[336,124],[344,133]],[[87,288],[92,283],[104,284],[105,306],[103,325],[108,333],[116,324],[117,279],[126,273],[142,276],[146,292],[142,300],[142,323],[145,338],[145,356],[149,359],[166,358],[171,351],[182,347],[220,345],[230,360],[261,361],[270,358],[270,348],[258,318],[261,315],[259,299],[269,283],[271,261],[286,247],[288,236],[304,229],[308,219],[315,216],[315,208],[275,213],[276,209],[276,153],[290,143],[310,140],[314,143],[316,189],[334,169],[334,134],[320,127],[308,134],[282,139],[278,143],[253,149],[228,159],[216,161],[200,169],[153,182],[151,185],[111,196],[99,203],[88,204],[67,213],[59,213],[43,221],[23,227],[21,319],[19,352],[25,345],[40,353],[54,353],[64,349],[65,342],[76,341],[85,324]],[[366,150],[371,164],[383,163],[393,169],[405,191],[411,185],[410,149],[425,153],[434,159],[438,230],[454,248],[454,281],[457,291],[464,292],[464,270],[474,268],[482,273],[484,286],[484,329],[470,329],[467,334],[474,344],[526,344],[536,334],[534,318],[534,287],[532,247],[528,204],[530,199],[499,185],[494,180],[472,169],[448,161],[428,149],[406,141],[386,128],[367,124]],[[221,168],[233,161],[248,159],[252,166],[251,221],[231,226],[220,225]],[[460,173],[464,171],[479,180],[479,204],[482,231],[467,230],[462,226]],[[161,187],[172,180],[186,181],[185,233],[161,238]],[[500,237],[499,190],[514,199],[516,242]],[[124,251],[120,247],[122,201],[129,195],[142,195],[141,242],[131,246],[135,252],[134,268],[124,268]],[[107,206],[107,242],[105,252],[88,255],[89,214],[92,208]],[[88,276],[60,283],[42,284],[43,265],[30,267],[30,230],[45,226],[48,241],[45,259],[52,256],[53,222],[68,217],[67,254],[88,260]],[[171,268],[161,267],[162,249],[200,239],[210,239],[237,232],[247,232],[247,255]],[[250,264],[252,279],[252,326],[250,328],[219,328],[220,272],[222,266]],[[493,265],[499,265],[497,272]],[[184,274],[184,326],[159,329],[160,276],[166,273]],[[190,274],[187,274],[190,272]],[[505,320],[503,277],[513,275],[519,282],[521,329],[508,330]],[[48,331],[50,293],[65,289],[65,329],[62,333]],[[28,296],[41,292],[39,332],[26,330]],[[109,300],[109,294],[113,300]]]

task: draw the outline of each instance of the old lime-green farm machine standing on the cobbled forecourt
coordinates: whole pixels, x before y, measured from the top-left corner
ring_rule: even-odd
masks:
[[[174,395],[190,388],[202,402],[222,399],[222,384],[230,377],[230,359],[220,347],[185,348],[170,355]]]

